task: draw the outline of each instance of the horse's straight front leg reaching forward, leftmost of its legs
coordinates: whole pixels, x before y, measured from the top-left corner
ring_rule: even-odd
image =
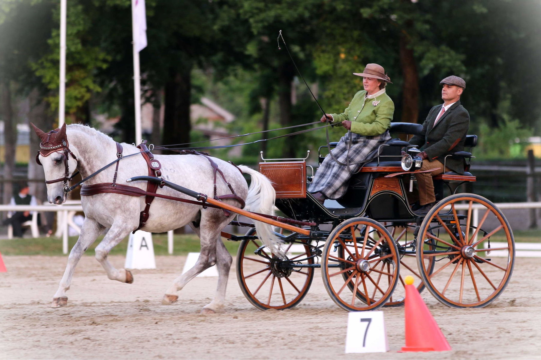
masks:
[[[79,235],[77,243],[69,253],[68,265],[64,271],[64,276],[62,276],[60,285],[58,285],[58,290],[52,299],[52,308],[60,308],[68,303],[66,291],[69,290],[75,266],[77,266],[77,263],[81,259],[84,252],[87,251],[88,246],[90,246],[96,240],[103,229],[103,226],[98,224],[94,219],[89,217],[84,219],[83,226],[81,227],[81,235]]]

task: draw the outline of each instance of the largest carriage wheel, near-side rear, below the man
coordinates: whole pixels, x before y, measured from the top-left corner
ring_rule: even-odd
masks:
[[[459,211],[462,202],[466,210]],[[427,257],[436,263],[431,274],[422,266]],[[451,195],[436,204],[421,224],[417,261],[423,282],[439,302],[454,308],[482,308],[509,283],[513,233],[502,211],[489,200],[474,194]]]

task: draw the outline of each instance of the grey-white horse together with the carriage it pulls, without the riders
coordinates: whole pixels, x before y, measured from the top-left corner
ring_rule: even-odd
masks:
[[[321,268],[329,296],[348,311],[403,303],[406,275],[419,280],[419,291],[426,287],[445,305],[482,307],[502,293],[511,277],[514,242],[505,216],[481,196],[456,194],[458,185],[476,180],[469,172],[445,172],[434,177],[438,203],[426,216],[412,211],[408,197],[420,158],[415,156],[416,149],[402,156],[401,149],[408,143],[400,139],[381,145],[374,160],[351,178],[346,195],[325,204],[306,191],[312,178],[306,174],[306,159],[264,161],[260,171],[274,182],[275,206],[285,215],[275,217],[268,211],[258,214],[241,209],[245,200],[247,204],[265,203],[264,198],[269,197],[265,186],[272,190],[265,177],[246,166],[235,169],[219,159],[192,153],[175,158],[154,157],[144,144],[137,149],[115,143],[85,126],[70,126],[68,134],[65,126],[49,133],[36,128],[42,139],[36,159],[44,163],[49,201],[61,204],[70,190],[88,181],[81,191],[87,218],[71,250],[53,307],[67,304],[65,291],[75,265],[104,227],[111,230],[97,246],[96,258],[110,279],[131,283],[129,270],[117,270],[108,262],[107,254],[113,246],[141,227],[162,232],[192,226],[201,237],[200,259],[175,280],[163,303],[176,302],[177,292],[190,279],[216,263],[219,284],[216,298],[203,309],[208,312],[223,306],[231,264],[220,234],[240,241],[237,279],[248,301],[261,310],[299,304],[312,284],[316,268]],[[421,128],[419,124],[393,123],[391,133],[413,135]],[[467,136],[465,146],[471,150],[476,142],[476,136]],[[320,163],[324,158],[322,148]],[[137,154],[142,154],[146,162]],[[472,158],[470,152],[464,151],[450,156]],[[104,162],[109,163],[103,166]],[[68,186],[76,168],[85,178]],[[150,176],[133,176],[147,170]],[[252,176],[250,189],[238,170]],[[111,178],[113,183],[107,182]],[[124,185],[124,179],[135,186]],[[451,195],[444,197],[444,185]],[[214,197],[206,195],[212,192]],[[154,208],[150,208],[154,197]],[[245,236],[220,232],[235,213],[255,220],[254,224],[235,222],[250,227]],[[271,228],[261,227],[262,223],[280,230],[273,234],[278,243],[268,241],[269,234],[264,232],[271,232]]]

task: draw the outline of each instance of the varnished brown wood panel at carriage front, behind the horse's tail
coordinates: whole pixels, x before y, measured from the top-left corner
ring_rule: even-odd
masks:
[[[259,172],[273,182],[277,199],[306,197],[306,162],[259,163]]]

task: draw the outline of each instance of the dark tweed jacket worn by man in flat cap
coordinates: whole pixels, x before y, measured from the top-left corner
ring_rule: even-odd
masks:
[[[421,146],[419,150],[426,152],[428,161],[437,159],[442,164],[445,162],[447,168],[454,172],[464,174],[463,159],[448,157],[445,161],[445,156],[464,150],[466,133],[470,127],[470,114],[460,105],[460,101],[457,101],[444,112],[434,126],[440,111],[441,105],[430,109],[423,123],[423,132],[413,136],[410,145]]]

